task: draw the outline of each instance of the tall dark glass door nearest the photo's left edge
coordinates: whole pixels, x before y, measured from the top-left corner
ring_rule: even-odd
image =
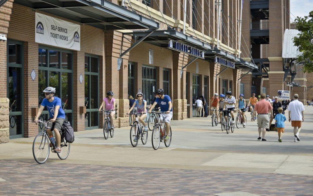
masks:
[[[10,139],[23,137],[23,44],[8,41],[7,96]]]

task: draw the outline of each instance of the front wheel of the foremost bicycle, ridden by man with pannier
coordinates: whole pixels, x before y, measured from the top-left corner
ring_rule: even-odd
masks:
[[[33,141],[33,156],[37,163],[43,164],[48,160],[50,153],[49,139],[47,135],[39,133]]]

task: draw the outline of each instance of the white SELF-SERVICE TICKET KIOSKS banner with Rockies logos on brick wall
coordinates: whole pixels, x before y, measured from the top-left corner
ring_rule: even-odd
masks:
[[[35,42],[80,50],[80,25],[41,13],[35,17]]]

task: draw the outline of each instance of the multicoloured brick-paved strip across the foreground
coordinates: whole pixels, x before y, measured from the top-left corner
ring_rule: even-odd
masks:
[[[0,195],[313,195],[313,176],[0,160]],[[58,173],[54,172],[58,171]]]

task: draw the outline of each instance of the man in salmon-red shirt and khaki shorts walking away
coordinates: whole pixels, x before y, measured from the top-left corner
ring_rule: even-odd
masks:
[[[258,128],[259,128],[258,140],[261,139],[261,133],[262,133],[262,141],[266,141],[265,133],[266,133],[266,129],[269,129],[269,112],[271,113],[270,117],[273,118],[273,107],[268,101],[265,101],[265,93],[262,93],[260,97],[261,97],[261,100],[255,103],[251,121],[253,120],[253,117],[256,114],[256,112],[258,112],[258,118],[257,118]]]

